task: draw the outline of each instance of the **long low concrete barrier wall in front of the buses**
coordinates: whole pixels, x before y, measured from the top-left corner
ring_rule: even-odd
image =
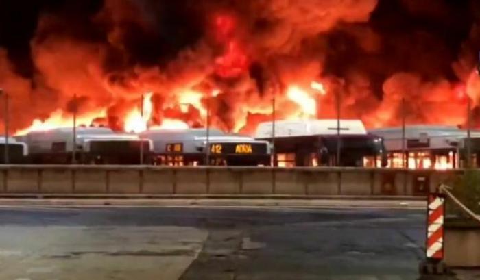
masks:
[[[381,168],[0,166],[0,193],[424,196],[460,172]]]

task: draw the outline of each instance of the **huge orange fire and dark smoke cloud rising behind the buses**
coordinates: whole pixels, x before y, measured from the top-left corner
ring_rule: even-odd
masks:
[[[399,125],[404,112],[407,124],[464,124],[470,98],[480,125],[480,79],[472,71],[480,29],[464,20],[474,18],[464,15],[475,10],[468,5],[67,2],[77,4],[39,3],[29,13],[38,16],[29,18],[33,29],[10,38],[25,40],[23,49],[0,40],[11,133],[71,127],[74,93],[78,125],[126,132],[204,127],[209,118],[224,131],[252,133],[273,115],[335,117],[337,97],[341,117],[367,127]],[[437,25],[449,35],[429,28]]]

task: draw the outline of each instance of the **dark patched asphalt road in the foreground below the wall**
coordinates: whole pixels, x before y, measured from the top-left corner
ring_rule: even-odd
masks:
[[[0,279],[417,279],[424,210],[3,207]]]

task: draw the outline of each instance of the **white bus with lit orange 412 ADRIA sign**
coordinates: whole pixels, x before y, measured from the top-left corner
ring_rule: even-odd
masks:
[[[228,135],[218,129],[156,129],[140,134],[152,140],[155,163],[169,166],[269,166],[269,142]],[[208,151],[207,151],[208,149]]]

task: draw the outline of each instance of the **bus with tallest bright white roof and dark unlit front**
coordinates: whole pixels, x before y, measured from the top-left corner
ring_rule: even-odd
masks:
[[[337,120],[279,120],[275,125],[261,123],[255,138],[274,141],[276,166],[381,167],[387,164],[382,138],[367,133],[361,120],[340,120],[339,137],[337,133]]]

